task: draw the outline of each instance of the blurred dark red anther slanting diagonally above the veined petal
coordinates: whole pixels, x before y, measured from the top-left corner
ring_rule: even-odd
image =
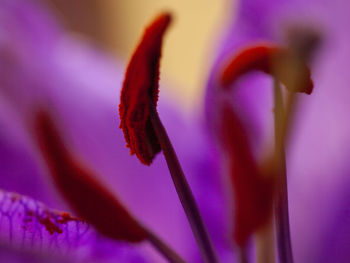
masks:
[[[128,242],[144,240],[145,229],[86,166],[73,158],[48,113],[36,115],[34,128],[52,178],[75,212],[107,237]]]

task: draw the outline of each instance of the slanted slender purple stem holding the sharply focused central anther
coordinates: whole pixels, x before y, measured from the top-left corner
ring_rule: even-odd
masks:
[[[156,112],[153,103],[150,104],[151,122],[157,135],[160,146],[163,150],[163,154],[168,164],[171,178],[174,182],[176,192],[180,198],[182,207],[190,223],[199,251],[202,255],[204,262],[216,263],[218,262],[216,251],[209,237],[206,226],[203,222],[202,216],[192,194],[191,188],[187,183],[186,177],[182,171],[175,150],[169,140],[169,137],[166,133],[162,122],[159,119],[158,113]]]

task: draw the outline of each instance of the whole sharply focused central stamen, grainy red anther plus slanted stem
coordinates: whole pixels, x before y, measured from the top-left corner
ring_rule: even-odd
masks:
[[[120,98],[120,128],[131,153],[136,153],[142,163],[150,165],[155,154],[163,150],[202,258],[207,263],[215,263],[218,260],[208,231],[156,110],[160,49],[170,20],[169,14],[160,15],[146,29],[131,58]]]

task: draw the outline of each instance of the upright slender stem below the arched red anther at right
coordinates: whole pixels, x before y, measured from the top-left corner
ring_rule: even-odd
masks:
[[[291,95],[294,96],[294,95]],[[276,231],[279,262],[293,263],[292,244],[289,228],[288,187],[286,158],[284,151],[285,137],[293,99],[289,97],[286,113],[283,108],[283,98],[278,79],[274,81],[274,104],[275,104],[275,160],[278,177],[277,200],[275,202]]]

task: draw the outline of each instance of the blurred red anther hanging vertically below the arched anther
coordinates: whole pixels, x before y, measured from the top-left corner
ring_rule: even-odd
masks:
[[[244,246],[271,216],[273,180],[259,169],[243,124],[235,112],[226,104],[222,107],[219,139],[227,154],[234,190],[234,240]]]

